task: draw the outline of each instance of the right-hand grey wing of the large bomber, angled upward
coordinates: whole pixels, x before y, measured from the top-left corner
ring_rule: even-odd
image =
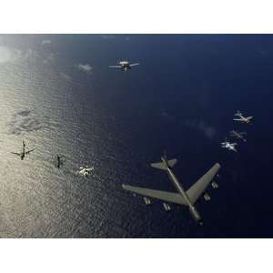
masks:
[[[187,196],[193,204],[196,203],[197,199],[204,193],[209,183],[216,176],[219,168],[220,165],[218,163],[215,164],[203,177],[199,178],[199,180],[187,190]]]

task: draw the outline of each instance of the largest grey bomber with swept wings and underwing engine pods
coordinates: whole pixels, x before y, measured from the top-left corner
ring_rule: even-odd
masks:
[[[133,187],[129,185],[122,185],[122,187],[125,190],[144,196],[144,200],[147,205],[151,203],[148,197],[164,201],[163,206],[167,211],[170,210],[170,206],[167,203],[175,203],[178,205],[187,206],[191,216],[197,221],[199,225],[203,225],[202,218],[200,217],[197,208],[195,207],[195,204],[201,196],[204,196],[207,201],[210,199],[205,191],[207,186],[217,175],[217,171],[219,170],[220,165],[218,163],[215,164],[207,171],[207,173],[203,177],[199,178],[194,185],[192,185],[187,189],[187,191],[185,191],[172,170],[176,163],[177,159],[167,160],[167,157],[163,156],[161,157],[161,162],[152,163],[151,166],[166,171],[177,192],[167,192],[145,187]],[[212,186],[214,188],[217,188],[216,182],[212,182],[211,184],[213,184]]]

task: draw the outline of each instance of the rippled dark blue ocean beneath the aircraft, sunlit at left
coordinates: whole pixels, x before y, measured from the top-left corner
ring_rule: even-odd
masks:
[[[272,86],[273,35],[0,35],[0,237],[271,238]],[[175,190],[150,167],[164,150],[186,188],[220,163],[203,227],[122,189]]]

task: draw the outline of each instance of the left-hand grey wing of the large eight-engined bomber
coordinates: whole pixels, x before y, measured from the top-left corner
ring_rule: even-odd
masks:
[[[124,185],[124,184],[122,185],[122,187],[125,190],[134,192],[134,193],[141,195],[141,196],[152,197],[152,198],[156,198],[156,199],[159,199],[162,201],[187,206],[185,199],[181,195],[179,195],[178,193],[162,191],[162,190],[157,190],[157,189],[150,189],[150,188],[145,188],[145,187],[133,187],[133,186]]]

